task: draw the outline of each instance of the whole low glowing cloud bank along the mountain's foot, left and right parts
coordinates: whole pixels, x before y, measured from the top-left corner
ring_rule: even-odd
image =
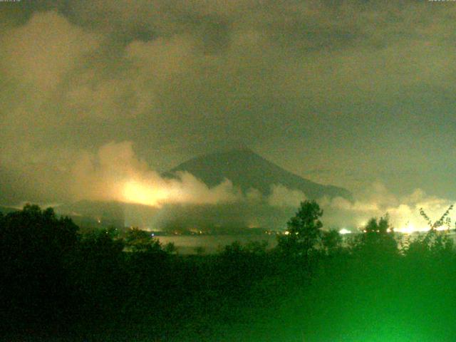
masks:
[[[264,197],[253,189],[243,194],[229,180],[209,188],[187,172],[178,173],[175,179],[163,178],[136,157],[132,142],[110,142],[100,147],[96,154],[83,153],[72,168],[71,179],[75,199],[114,200],[156,208],[167,204],[238,203],[257,205],[261,207],[259,213],[264,211],[265,205],[290,212],[306,199],[304,192],[284,185],[272,185],[271,195]],[[399,232],[427,229],[427,223],[420,216],[421,208],[436,221],[452,204],[450,199],[429,196],[420,189],[397,197],[381,183],[366,188],[353,202],[341,197],[323,197],[317,202],[323,208],[326,228],[353,230],[363,227],[371,217],[388,213],[391,224]],[[454,213],[451,212],[450,217],[454,219]]]

